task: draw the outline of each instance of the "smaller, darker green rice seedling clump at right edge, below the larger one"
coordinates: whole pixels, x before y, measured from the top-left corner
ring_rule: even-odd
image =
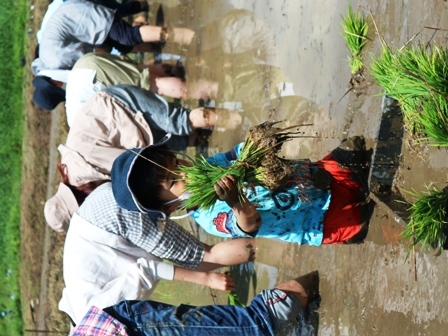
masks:
[[[443,245],[444,226],[447,225],[448,187],[442,191],[436,187],[427,188],[424,194],[410,192],[418,200],[409,207],[410,220],[401,233],[404,240],[412,240],[410,250],[421,243],[421,248]]]

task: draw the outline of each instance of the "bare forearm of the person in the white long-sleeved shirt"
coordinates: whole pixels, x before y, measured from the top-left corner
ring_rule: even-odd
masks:
[[[235,281],[225,273],[200,272],[174,266],[174,280],[193,282],[223,291],[235,290]]]

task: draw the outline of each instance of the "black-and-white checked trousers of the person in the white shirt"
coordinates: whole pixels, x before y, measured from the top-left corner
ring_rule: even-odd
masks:
[[[96,188],[78,214],[91,224],[174,264],[195,269],[204,258],[202,243],[177,223],[167,220],[161,227],[147,214],[122,209],[115,202],[110,182]]]

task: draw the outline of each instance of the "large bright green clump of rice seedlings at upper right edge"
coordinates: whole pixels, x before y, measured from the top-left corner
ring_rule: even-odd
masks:
[[[395,98],[411,130],[427,135],[431,145],[448,146],[448,51],[403,47],[392,51],[384,45],[373,56],[370,72],[387,95]]]

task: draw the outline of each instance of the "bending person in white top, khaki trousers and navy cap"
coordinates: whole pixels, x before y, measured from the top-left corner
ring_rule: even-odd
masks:
[[[65,101],[67,123],[71,126],[76,113],[95,92],[113,85],[138,86],[171,98],[202,98],[196,91],[187,93],[185,81],[175,77],[176,70],[168,64],[138,64],[126,56],[88,53],[76,61],[72,70],[67,70],[65,81],[53,79],[49,71],[42,72],[48,76],[36,76],[32,82],[35,88],[33,101],[44,110],[53,110]],[[201,86],[207,85],[212,84],[201,81]]]

